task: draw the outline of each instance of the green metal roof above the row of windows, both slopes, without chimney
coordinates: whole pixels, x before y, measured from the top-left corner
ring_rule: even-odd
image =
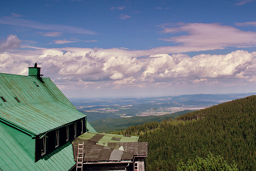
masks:
[[[39,135],[86,115],[49,78],[0,73],[0,120]],[[20,101],[18,102],[15,97]],[[88,123],[89,131],[96,132]]]

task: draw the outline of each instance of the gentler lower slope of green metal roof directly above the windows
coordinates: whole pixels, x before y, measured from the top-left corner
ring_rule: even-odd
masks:
[[[85,115],[61,102],[0,108],[0,118],[34,135],[60,127]]]

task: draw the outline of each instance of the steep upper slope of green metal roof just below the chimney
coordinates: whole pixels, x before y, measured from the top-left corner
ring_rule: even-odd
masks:
[[[42,80],[44,83],[34,76],[0,73],[0,96],[6,100],[3,102],[0,99],[0,108],[60,101],[75,109],[50,78],[42,78]],[[15,97],[20,100],[20,103]]]

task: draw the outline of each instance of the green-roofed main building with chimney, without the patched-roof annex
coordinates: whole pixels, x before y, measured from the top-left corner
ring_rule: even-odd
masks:
[[[0,73],[1,171],[68,171],[86,131],[96,132],[36,64],[29,76]]]

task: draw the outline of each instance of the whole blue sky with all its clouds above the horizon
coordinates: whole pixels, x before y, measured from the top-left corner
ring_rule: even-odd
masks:
[[[4,0],[0,72],[69,98],[256,92],[255,0]]]

